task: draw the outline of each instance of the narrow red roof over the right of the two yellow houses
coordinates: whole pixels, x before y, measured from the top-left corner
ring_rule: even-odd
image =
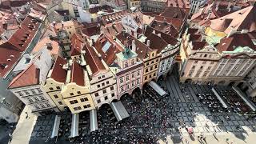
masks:
[[[75,82],[78,86],[85,86],[83,68],[78,62],[74,62],[71,67],[70,82]]]

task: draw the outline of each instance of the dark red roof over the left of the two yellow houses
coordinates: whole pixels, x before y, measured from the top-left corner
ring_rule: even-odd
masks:
[[[50,78],[53,78],[56,82],[66,82],[67,71],[62,68],[65,64],[66,60],[58,56],[54,62]]]

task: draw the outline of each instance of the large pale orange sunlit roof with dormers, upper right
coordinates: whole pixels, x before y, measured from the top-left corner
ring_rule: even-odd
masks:
[[[231,30],[256,30],[256,6],[248,6],[242,10],[211,20],[210,27],[214,30],[230,34]]]

